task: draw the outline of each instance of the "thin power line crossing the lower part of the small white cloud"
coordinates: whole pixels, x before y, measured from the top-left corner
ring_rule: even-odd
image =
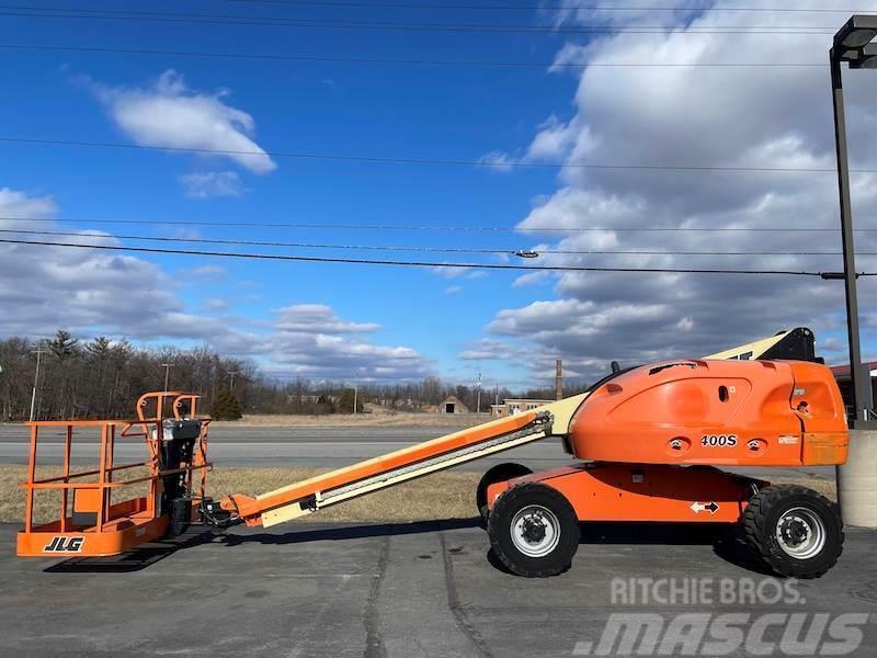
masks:
[[[314,154],[303,151],[277,150],[238,150],[216,148],[194,148],[182,146],[151,146],[146,144],[123,144],[118,141],[87,141],[80,139],[37,139],[30,137],[0,136],[0,141],[13,144],[33,144],[42,146],[71,146],[89,148],[137,149],[152,151],[172,151],[184,154],[213,154],[219,156],[262,156],[272,158],[296,158],[306,160],[330,160],[340,162],[360,162],[375,164],[440,164],[446,167],[509,167],[531,169],[602,169],[602,170],[639,170],[639,171],[719,171],[719,172],[779,172],[779,173],[835,173],[831,168],[805,167],[724,167],[695,164],[604,164],[596,162],[521,162],[498,160],[464,160],[449,158],[395,158],[383,156],[342,156],[335,154]],[[877,169],[851,169],[852,173],[877,173]]]

